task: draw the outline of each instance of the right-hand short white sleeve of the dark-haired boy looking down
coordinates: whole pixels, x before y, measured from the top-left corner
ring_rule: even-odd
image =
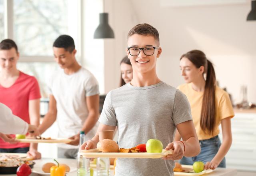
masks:
[[[89,79],[84,83],[85,96],[93,96],[99,94],[99,85],[94,76],[90,76]]]

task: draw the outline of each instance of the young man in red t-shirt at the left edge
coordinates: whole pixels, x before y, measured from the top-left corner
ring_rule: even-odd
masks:
[[[0,102],[8,106],[14,115],[25,122],[38,126],[40,120],[40,88],[36,78],[16,68],[18,47],[13,40],[0,42]],[[12,128],[12,126],[10,126]],[[10,144],[0,139],[0,152],[28,153],[40,159],[37,144]]]

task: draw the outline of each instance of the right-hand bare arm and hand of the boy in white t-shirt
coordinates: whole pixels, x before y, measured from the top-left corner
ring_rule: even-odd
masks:
[[[83,127],[81,131],[84,131],[85,134],[87,134],[94,125],[98,122],[99,118],[99,106],[100,106],[100,97],[98,94],[93,96],[87,96],[86,97],[86,104],[88,109],[88,116],[83,124]],[[71,142],[68,144],[70,145],[78,145],[79,144],[79,136],[80,134],[76,134],[75,136],[72,136],[70,139],[72,139]]]

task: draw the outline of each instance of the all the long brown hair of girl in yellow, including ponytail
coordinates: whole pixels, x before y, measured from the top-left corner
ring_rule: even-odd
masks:
[[[206,134],[213,134],[215,121],[215,87],[216,87],[216,76],[212,65],[204,52],[200,50],[192,50],[183,54],[180,58],[188,58],[196,68],[204,66],[204,73],[206,73],[206,83],[204,87],[204,96],[202,101],[202,110],[200,118],[200,126]],[[203,76],[203,75],[202,75]]]

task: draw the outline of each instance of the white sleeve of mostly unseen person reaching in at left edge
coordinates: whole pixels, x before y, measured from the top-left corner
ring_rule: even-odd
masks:
[[[28,123],[12,114],[12,110],[0,103],[0,132],[4,134],[26,134]]]

